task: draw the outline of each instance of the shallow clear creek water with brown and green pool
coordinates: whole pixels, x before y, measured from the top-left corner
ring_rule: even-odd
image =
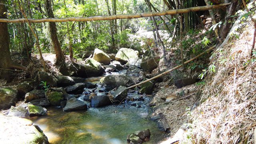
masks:
[[[98,82],[99,78],[88,79]],[[129,94],[132,96],[133,94]],[[138,94],[135,94],[138,95]],[[127,144],[126,136],[149,128],[150,141],[157,144],[165,133],[149,117],[151,109],[142,102],[141,108],[120,104],[87,111],[63,112],[62,108],[47,108],[48,115],[31,118],[48,137],[51,144]]]

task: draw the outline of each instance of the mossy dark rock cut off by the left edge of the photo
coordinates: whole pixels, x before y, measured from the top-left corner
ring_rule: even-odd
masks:
[[[0,109],[8,109],[18,101],[18,92],[12,88],[0,88]]]

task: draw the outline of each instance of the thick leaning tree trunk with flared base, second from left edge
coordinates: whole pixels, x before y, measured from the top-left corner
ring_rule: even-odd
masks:
[[[49,18],[54,18],[54,14],[52,11],[51,0],[45,0],[46,12]],[[55,22],[49,22],[50,35],[52,39],[52,44],[54,47],[54,52],[56,54],[55,64],[62,64],[65,61],[64,54],[60,48],[60,42],[57,36],[57,27]]]

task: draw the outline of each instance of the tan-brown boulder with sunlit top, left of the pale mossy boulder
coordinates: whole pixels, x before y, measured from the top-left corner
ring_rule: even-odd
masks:
[[[105,65],[108,65],[111,62],[111,59],[108,56],[108,54],[106,54],[102,50],[99,50],[98,48],[94,49],[94,54],[93,54],[92,58],[94,60],[96,60],[97,62],[100,62],[100,63],[105,64]]]

